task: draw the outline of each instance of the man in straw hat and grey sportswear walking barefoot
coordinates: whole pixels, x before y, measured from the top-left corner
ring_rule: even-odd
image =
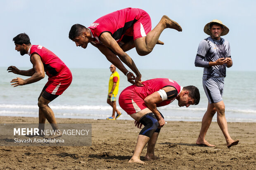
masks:
[[[232,140],[228,133],[225,118],[225,105],[222,99],[226,67],[233,65],[229,42],[220,36],[228,34],[229,29],[219,20],[213,20],[204,26],[204,33],[210,35],[202,40],[197,50],[195,66],[203,67],[203,87],[208,98],[208,107],[202,119],[201,131],[196,144],[214,147],[205,140],[206,132],[211,125],[212,118],[217,112],[217,122],[225,136],[227,147],[238,144],[239,140]]]

